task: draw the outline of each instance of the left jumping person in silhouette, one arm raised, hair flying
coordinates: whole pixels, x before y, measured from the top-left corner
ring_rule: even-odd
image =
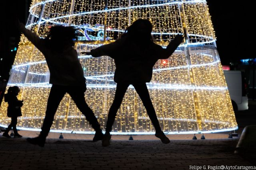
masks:
[[[18,24],[20,31],[43,53],[50,70],[50,84],[52,84],[42,131],[38,137],[28,138],[28,142],[44,147],[54,115],[66,93],[71,96],[78,109],[95,129],[93,141],[102,140],[100,124],[84,98],[86,91],[84,71],[73,41],[77,39],[76,30],[73,27],[54,26],[50,28],[48,36],[41,39],[36,33],[26,29],[24,24]]]

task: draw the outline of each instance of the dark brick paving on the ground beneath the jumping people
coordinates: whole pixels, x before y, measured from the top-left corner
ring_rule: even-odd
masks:
[[[24,138],[7,139],[0,135],[0,170],[170,170],[189,166],[252,166],[234,149],[238,137],[224,133],[167,135],[170,144],[162,144],[154,135],[112,135],[111,145],[92,142],[93,135],[50,133],[44,148],[26,142],[39,132],[19,131]]]

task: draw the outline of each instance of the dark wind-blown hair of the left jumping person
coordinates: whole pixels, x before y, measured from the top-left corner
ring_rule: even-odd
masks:
[[[63,51],[67,47],[73,47],[77,40],[74,27],[53,26],[46,37],[48,47],[53,51]]]

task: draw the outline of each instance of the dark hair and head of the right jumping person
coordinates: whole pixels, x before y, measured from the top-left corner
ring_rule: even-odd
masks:
[[[143,27],[143,32],[140,28]],[[139,31],[140,30],[140,31]],[[129,27],[126,28],[124,33],[121,35],[122,37],[128,37],[129,40],[136,41],[139,39],[143,42],[153,42],[153,38],[151,35],[152,32],[152,24],[149,20],[146,19],[138,19],[132,23]]]

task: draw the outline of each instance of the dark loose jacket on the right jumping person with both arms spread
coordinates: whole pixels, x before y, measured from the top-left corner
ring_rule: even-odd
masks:
[[[124,37],[91,50],[93,57],[107,55],[114,59],[116,64],[114,81],[116,83],[150,82],[156,61],[170,57],[181,43],[174,39],[164,49],[154,42],[141,46],[135,42],[129,43],[126,39]]]

